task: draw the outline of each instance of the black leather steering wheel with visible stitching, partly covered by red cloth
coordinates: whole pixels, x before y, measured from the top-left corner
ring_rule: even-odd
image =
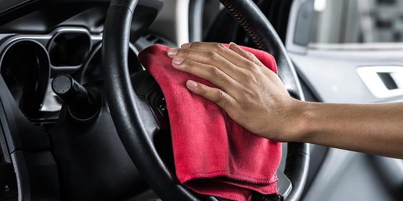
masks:
[[[271,53],[277,61],[279,76],[290,94],[304,99],[294,66],[278,34],[252,0],[220,0],[235,17],[256,46]],[[135,91],[127,66],[131,18],[138,0],[112,0],[104,26],[102,68],[104,87],[118,135],[150,187],[163,200],[218,200],[202,196],[181,185],[174,171],[158,154],[154,135],[161,125],[144,93]],[[150,82],[151,83],[151,82]],[[155,83],[155,82],[154,82]],[[143,83],[144,85],[144,83]],[[147,84],[146,84],[147,85]],[[147,90],[151,90],[151,86]],[[146,91],[147,92],[147,91]],[[142,94],[140,94],[142,93]],[[151,109],[151,110],[150,110]],[[285,175],[292,189],[286,200],[298,200],[308,172],[309,147],[306,143],[288,143]],[[267,200],[267,198],[263,198]]]

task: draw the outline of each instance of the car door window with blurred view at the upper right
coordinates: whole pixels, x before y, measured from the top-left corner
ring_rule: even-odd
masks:
[[[311,49],[403,49],[403,0],[315,0],[311,26]]]

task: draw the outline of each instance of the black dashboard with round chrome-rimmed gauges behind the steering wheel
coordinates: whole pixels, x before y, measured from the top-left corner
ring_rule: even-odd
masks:
[[[52,91],[51,81],[61,73],[69,74],[84,86],[102,81],[102,31],[109,3],[13,0],[0,4],[0,93],[4,109],[0,119],[5,133],[0,135],[0,172],[4,177],[0,179],[0,188],[4,188],[0,200],[17,200],[18,196],[24,199],[27,194],[33,199],[58,199],[59,189],[54,188],[58,181],[51,179],[51,175],[57,174],[50,151],[52,140],[44,134],[54,130],[62,113],[62,102]],[[173,45],[149,31],[162,5],[161,0],[139,1],[127,55],[130,73],[144,70],[137,55],[145,47]],[[34,158],[41,158],[41,163],[30,163]],[[15,169],[13,162],[30,167]],[[29,180],[27,174],[36,182]],[[45,174],[49,176],[43,177]],[[47,184],[27,188],[29,184],[25,182]]]

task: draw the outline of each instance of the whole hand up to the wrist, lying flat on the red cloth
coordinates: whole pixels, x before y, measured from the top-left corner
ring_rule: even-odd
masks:
[[[256,135],[292,141],[299,100],[292,98],[272,70],[235,43],[193,42],[170,48],[172,66],[203,78],[218,88],[188,80],[187,88],[219,107]]]

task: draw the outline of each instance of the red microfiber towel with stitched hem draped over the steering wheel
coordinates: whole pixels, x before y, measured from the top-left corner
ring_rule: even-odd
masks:
[[[272,55],[242,48],[277,73]],[[250,200],[252,191],[278,193],[281,143],[248,132],[213,102],[190,92],[185,85],[189,79],[214,85],[173,68],[167,50],[163,45],[148,47],[139,60],[166,99],[179,181],[197,193],[239,201]]]

